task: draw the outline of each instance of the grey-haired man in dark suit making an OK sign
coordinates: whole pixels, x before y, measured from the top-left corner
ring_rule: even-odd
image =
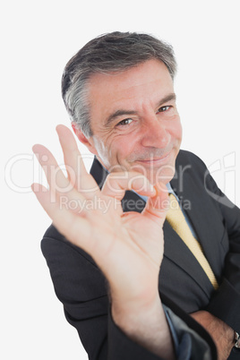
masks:
[[[163,320],[159,292],[164,304],[171,308],[175,306],[168,300],[170,298],[186,313],[192,313],[193,318],[210,332],[221,359],[227,358],[235,345],[236,332],[240,330],[239,210],[220,193],[200,159],[191,153],[179,152],[182,133],[173,87],[175,73],[176,62],[171,47],[148,35],[134,33],[113,33],[91,40],[65,68],[63,97],[72,117],[73,130],[97,157],[91,174],[102,187],[107,173],[110,173],[102,194],[98,193],[98,196],[120,200],[125,190],[135,191],[126,192],[122,201],[124,211],[133,210],[132,214],[122,215],[119,205],[116,205],[120,222],[116,222],[115,216],[111,218],[110,212],[104,218],[100,213],[95,215],[96,221],[90,227],[93,236],[88,229],[88,238],[99,236],[99,241],[94,244],[81,240],[82,244],[79,240],[84,237],[86,223],[81,224],[81,232],[75,226],[75,220],[71,228],[69,223],[64,225],[69,217],[69,206],[63,216],[63,211],[50,210],[49,204],[43,200],[44,192],[39,198],[59,231],[90,253],[98,264],[96,267],[89,255],[70,246],[55,227],[47,230],[42,249],[56,295],[64,303],[66,318],[79,331],[90,358],[107,358],[107,320],[111,321],[111,316],[127,339],[150,351],[146,357],[141,355],[142,358],[150,358],[153,354],[172,358],[174,354],[169,330]],[[72,212],[81,212],[85,219],[89,212],[83,209],[84,201],[93,201],[92,193],[86,195],[86,189],[92,190],[95,183],[89,176],[81,175],[83,187],[76,184],[72,174],[79,169],[74,156],[76,148],[67,131],[60,128],[58,133],[70,183],[74,189],[81,188],[80,195],[71,193],[64,205],[58,193],[58,206],[66,208],[69,201],[77,197],[78,207]],[[47,150],[37,148],[35,151],[40,154],[43,166],[45,154],[50,159],[48,167],[56,167]],[[61,181],[64,185],[64,179]],[[164,222],[166,192],[163,184],[167,184],[169,191],[174,192],[177,201],[185,208],[184,216],[201,245],[214,283],[169,221]],[[55,188],[53,184],[52,188]],[[87,196],[84,200],[82,189]],[[149,197],[145,209],[144,195]],[[184,207],[186,203],[188,207]],[[135,211],[142,212],[136,214]],[[158,219],[156,228],[153,224],[155,217]],[[163,223],[165,248],[162,260],[159,244],[163,240],[161,238],[156,243],[156,239],[161,234],[159,224]],[[113,241],[115,237],[117,241]],[[119,238],[124,237],[123,247],[118,248]],[[125,248],[126,245],[133,253],[130,248]],[[121,281],[121,274],[126,279],[126,273],[129,278],[127,286],[124,280]],[[111,310],[107,315],[109,303]],[[94,332],[96,327],[98,332]],[[108,329],[112,329],[111,326]],[[91,332],[95,334],[94,339]],[[108,337],[109,350],[115,343],[110,341],[109,330]],[[162,347],[163,343],[166,347]],[[232,358],[239,356],[238,350],[234,350]],[[125,356],[122,358],[127,358]]]

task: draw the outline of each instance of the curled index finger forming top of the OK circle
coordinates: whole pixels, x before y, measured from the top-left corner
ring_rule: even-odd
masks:
[[[133,190],[143,196],[155,196],[156,190],[146,176],[137,172],[116,172],[107,176],[102,193],[122,200],[126,190]]]

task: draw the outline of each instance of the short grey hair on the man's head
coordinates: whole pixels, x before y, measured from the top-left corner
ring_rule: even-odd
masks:
[[[88,81],[95,73],[120,72],[150,59],[162,61],[172,79],[176,74],[173,47],[148,34],[112,32],[90,40],[64,68],[62,96],[65,107],[85,136],[92,136]]]

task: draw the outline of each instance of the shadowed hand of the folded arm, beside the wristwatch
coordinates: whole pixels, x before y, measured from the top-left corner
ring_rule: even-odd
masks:
[[[234,346],[234,330],[206,311],[192,313],[191,316],[209,331],[218,349],[219,360],[226,360]]]

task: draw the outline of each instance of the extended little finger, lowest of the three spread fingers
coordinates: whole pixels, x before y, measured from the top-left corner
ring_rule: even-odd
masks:
[[[39,203],[53,220],[58,231],[71,243],[80,246],[87,253],[91,249],[91,228],[87,219],[75,215],[72,211],[61,207],[58,201],[52,201],[51,192],[41,184],[31,185]],[[79,236],[81,234],[81,236]]]

